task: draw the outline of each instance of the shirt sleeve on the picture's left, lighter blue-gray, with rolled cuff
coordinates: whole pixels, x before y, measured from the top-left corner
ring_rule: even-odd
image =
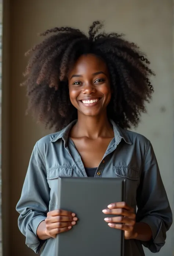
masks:
[[[16,210],[20,214],[18,227],[26,237],[26,245],[39,253],[45,241],[37,237],[37,227],[46,219],[50,201],[46,167],[36,143],[28,166],[21,198]]]

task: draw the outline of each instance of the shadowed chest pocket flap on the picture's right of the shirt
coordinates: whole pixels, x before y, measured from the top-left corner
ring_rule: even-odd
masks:
[[[114,166],[115,177],[120,176],[130,180],[139,180],[139,171],[129,165]]]

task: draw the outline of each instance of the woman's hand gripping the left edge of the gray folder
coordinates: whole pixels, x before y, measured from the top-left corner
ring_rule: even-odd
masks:
[[[53,210],[47,213],[46,235],[55,238],[57,234],[68,231],[76,224],[76,214],[66,210]]]

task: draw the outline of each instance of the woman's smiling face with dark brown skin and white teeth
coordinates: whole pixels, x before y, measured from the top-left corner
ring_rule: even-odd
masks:
[[[83,115],[106,112],[111,91],[109,72],[104,61],[93,55],[81,55],[68,75],[69,95],[73,106]]]

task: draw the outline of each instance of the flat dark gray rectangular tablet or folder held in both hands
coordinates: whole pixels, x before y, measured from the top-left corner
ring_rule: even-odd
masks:
[[[123,256],[123,231],[110,228],[102,210],[124,201],[126,180],[60,177],[58,183],[58,209],[75,212],[79,220],[57,235],[57,256]]]

